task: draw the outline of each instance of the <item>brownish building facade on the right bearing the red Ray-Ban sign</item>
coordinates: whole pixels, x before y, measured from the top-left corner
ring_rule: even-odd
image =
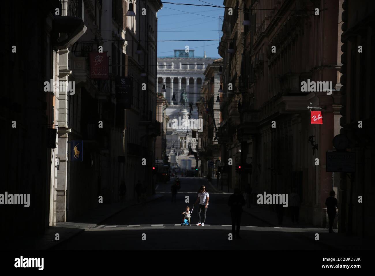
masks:
[[[231,185],[245,190],[250,184],[254,195],[296,189],[301,219],[326,226],[325,200],[338,189],[338,175],[326,172],[326,152],[334,150],[341,116],[339,1],[225,5],[241,10],[225,15],[219,47],[221,154],[248,168],[235,173],[232,166]],[[311,12],[315,8],[319,15]],[[250,25],[243,25],[246,14]],[[329,81],[332,90],[304,90],[303,81]],[[311,124],[310,103],[321,108],[323,124]]]

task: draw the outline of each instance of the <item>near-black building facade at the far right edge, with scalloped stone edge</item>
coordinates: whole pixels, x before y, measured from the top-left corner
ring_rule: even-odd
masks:
[[[355,172],[340,173],[339,230],[374,239],[375,218],[375,96],[374,76],[375,3],[342,2],[340,134],[348,152],[354,152]],[[362,48],[362,49],[361,49]],[[371,49],[371,50],[370,50]],[[360,201],[363,197],[363,202]],[[365,200],[368,198],[369,200]]]

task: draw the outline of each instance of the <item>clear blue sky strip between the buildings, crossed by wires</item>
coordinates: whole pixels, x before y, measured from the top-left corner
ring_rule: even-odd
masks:
[[[166,1],[173,3],[189,3],[198,5],[211,4],[223,6],[223,0],[204,0],[204,2],[199,0]],[[219,16],[222,17],[223,14],[223,8],[214,8],[207,6],[173,5],[163,3],[163,8],[159,12],[157,12],[157,40],[220,39],[219,21],[221,20],[219,20]],[[217,53],[219,41],[159,41],[157,42],[157,56],[172,56],[173,50],[185,49],[186,45],[188,45],[191,50],[195,50],[195,56],[203,56],[203,45],[205,45],[204,50],[206,51],[207,57],[219,57],[219,54]]]

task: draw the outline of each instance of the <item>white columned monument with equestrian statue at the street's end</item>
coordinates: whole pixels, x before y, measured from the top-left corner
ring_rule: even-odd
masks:
[[[203,73],[213,60],[196,57],[194,50],[189,53],[185,50],[174,50],[173,57],[157,59],[157,91],[163,93],[169,103],[169,107],[165,109],[165,116],[169,118],[166,125],[166,154],[171,167],[176,169],[193,170],[199,165],[196,158],[189,155],[189,145],[196,152],[198,130],[193,125],[189,129],[176,129],[173,120],[178,121],[180,118],[180,121],[192,119],[198,122],[196,103],[199,101],[205,77]],[[166,91],[162,91],[163,84]],[[183,92],[186,93],[185,106],[181,104]]]

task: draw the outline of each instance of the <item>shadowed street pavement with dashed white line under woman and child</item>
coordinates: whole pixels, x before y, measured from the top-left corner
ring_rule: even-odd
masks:
[[[182,212],[192,208],[196,191],[206,185],[210,195],[205,226],[196,226],[197,208],[192,213],[193,226],[181,226]],[[144,249],[217,249],[217,250],[327,250],[314,243],[314,233],[321,228],[275,228],[244,212],[241,240],[228,240],[231,219],[228,193],[216,190],[203,178],[181,178],[177,202],[171,202],[171,182],[157,185],[164,196],[144,205],[126,208],[102,225],[85,231],[54,247],[55,250],[144,250]],[[189,203],[185,203],[189,196]],[[326,231],[325,231],[326,232]],[[142,240],[146,234],[146,240]],[[322,233],[328,235],[327,233]]]

